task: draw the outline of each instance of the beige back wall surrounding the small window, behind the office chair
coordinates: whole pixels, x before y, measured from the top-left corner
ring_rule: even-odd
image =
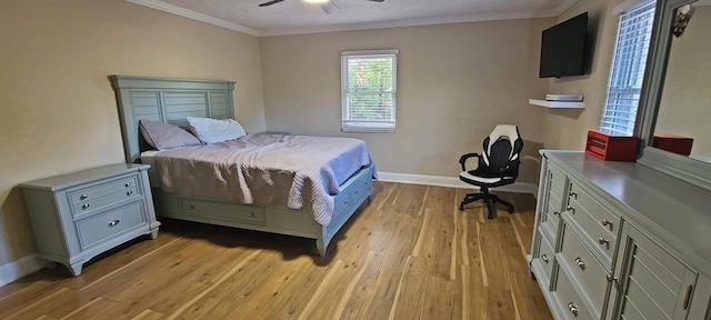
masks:
[[[521,181],[538,181],[545,109],[538,78],[541,31],[553,19],[525,19],[330,32],[261,39],[264,111],[270,130],[365,140],[380,171],[457,177],[459,157],[481,151],[497,123],[527,140]],[[399,49],[395,133],[342,133],[342,50]]]

